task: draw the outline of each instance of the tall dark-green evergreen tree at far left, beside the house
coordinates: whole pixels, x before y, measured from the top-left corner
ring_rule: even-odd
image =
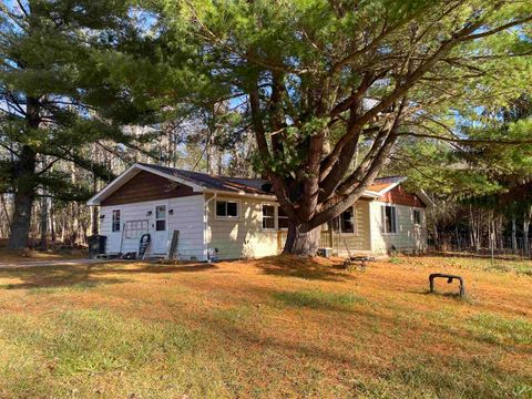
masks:
[[[91,158],[85,144],[134,146],[143,140],[122,130],[146,116],[143,99],[133,101],[136,93],[123,84],[135,68],[141,78],[143,68],[119,52],[119,44],[142,43],[140,28],[127,1],[0,4],[0,188],[14,198],[10,248],[28,244],[39,187],[60,200],[89,194],[88,184],[73,185],[55,170],[58,161],[109,180],[112,174]]]

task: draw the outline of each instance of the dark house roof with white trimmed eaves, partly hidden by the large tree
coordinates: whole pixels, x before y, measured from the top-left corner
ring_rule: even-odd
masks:
[[[141,171],[151,172],[177,183],[188,185],[195,192],[225,192],[228,194],[274,197],[269,182],[264,178],[227,177],[167,166],[136,163],[90,198],[88,204],[99,205],[102,200],[119,190]],[[376,178],[374,184],[365,191],[364,196],[379,197],[405,180],[406,177],[402,176]]]

